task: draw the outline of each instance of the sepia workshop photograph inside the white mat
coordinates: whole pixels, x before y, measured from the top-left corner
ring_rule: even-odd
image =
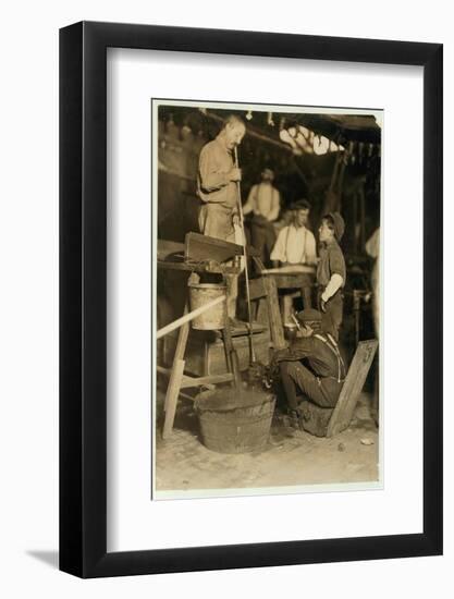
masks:
[[[382,488],[383,111],[151,99],[151,499]]]

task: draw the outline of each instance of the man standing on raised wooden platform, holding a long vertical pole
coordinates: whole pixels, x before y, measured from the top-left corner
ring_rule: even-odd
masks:
[[[234,163],[233,150],[246,133],[244,122],[229,117],[218,136],[200,151],[197,173],[197,195],[203,201],[198,223],[204,235],[235,243],[235,225],[240,223],[238,192],[241,169]],[[228,314],[235,319],[238,278],[228,276]]]

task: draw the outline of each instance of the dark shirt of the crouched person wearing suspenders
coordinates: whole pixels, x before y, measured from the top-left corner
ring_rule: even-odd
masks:
[[[341,381],[345,379],[346,367],[339,346],[324,332],[296,339],[287,350],[274,354],[274,360],[278,363],[303,359],[317,377]]]

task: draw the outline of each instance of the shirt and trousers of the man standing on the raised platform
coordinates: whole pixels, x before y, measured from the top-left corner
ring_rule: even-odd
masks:
[[[197,195],[204,203],[199,227],[204,235],[226,240],[234,234],[232,218],[237,211],[237,187],[229,173],[234,162],[219,136],[200,151],[197,173]]]

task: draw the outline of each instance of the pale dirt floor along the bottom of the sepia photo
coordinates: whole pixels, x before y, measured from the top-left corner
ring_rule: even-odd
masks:
[[[371,396],[363,393],[351,426],[318,438],[290,426],[277,409],[267,445],[247,454],[204,447],[192,402],[179,402],[174,429],[156,435],[156,490],[188,491],[377,481],[379,436]]]

